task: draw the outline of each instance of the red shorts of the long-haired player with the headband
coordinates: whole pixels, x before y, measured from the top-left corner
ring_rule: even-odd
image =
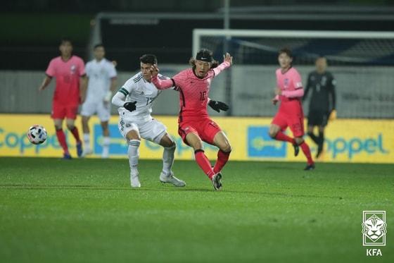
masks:
[[[212,121],[210,118],[202,118],[198,120],[185,120],[179,123],[178,134],[182,137],[182,140],[186,145],[186,135],[189,133],[195,133],[204,142],[208,142],[213,145],[213,138],[217,133],[221,131],[220,127]]]

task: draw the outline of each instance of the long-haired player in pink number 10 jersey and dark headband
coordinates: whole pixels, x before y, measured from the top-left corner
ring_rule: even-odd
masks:
[[[157,66],[152,67],[152,82],[159,89],[175,87],[179,91],[179,129],[182,140],[193,147],[198,166],[212,181],[215,190],[222,188],[222,171],[229,159],[231,145],[220,127],[208,116],[207,104],[216,111],[226,111],[228,106],[208,98],[210,82],[217,74],[232,64],[233,57],[224,55],[224,62],[218,65],[212,57],[212,51],[201,49],[196,59],[191,59],[192,68],[181,71],[169,80],[158,78]],[[219,147],[215,166],[211,166],[203,150],[203,141]]]

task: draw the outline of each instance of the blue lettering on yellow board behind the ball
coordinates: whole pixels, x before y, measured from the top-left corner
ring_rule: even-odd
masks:
[[[27,133],[27,130],[26,130]],[[44,149],[61,149],[56,134],[48,134],[46,141],[42,145],[33,145],[27,139],[26,133],[15,133],[8,132],[3,128],[0,128],[0,149],[18,149],[20,154],[24,154],[26,150],[34,149],[35,154],[39,154]],[[75,145],[71,145],[69,142],[69,132],[65,130],[65,140],[68,148],[75,148]]]

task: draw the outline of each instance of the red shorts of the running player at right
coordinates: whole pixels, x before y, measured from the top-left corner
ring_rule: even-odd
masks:
[[[302,114],[283,114],[278,112],[272,120],[272,124],[275,124],[281,128],[282,131],[290,128],[294,137],[303,137],[304,133],[304,116]]]

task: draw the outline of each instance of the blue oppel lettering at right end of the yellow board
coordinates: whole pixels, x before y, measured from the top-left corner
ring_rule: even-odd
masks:
[[[343,137],[337,137],[334,140],[326,139],[326,153],[330,154],[332,159],[336,159],[340,154],[345,154],[351,160],[355,155],[366,152],[367,154],[388,154],[389,151],[384,149],[383,135],[379,133],[376,137],[362,139],[352,137],[345,140]]]

